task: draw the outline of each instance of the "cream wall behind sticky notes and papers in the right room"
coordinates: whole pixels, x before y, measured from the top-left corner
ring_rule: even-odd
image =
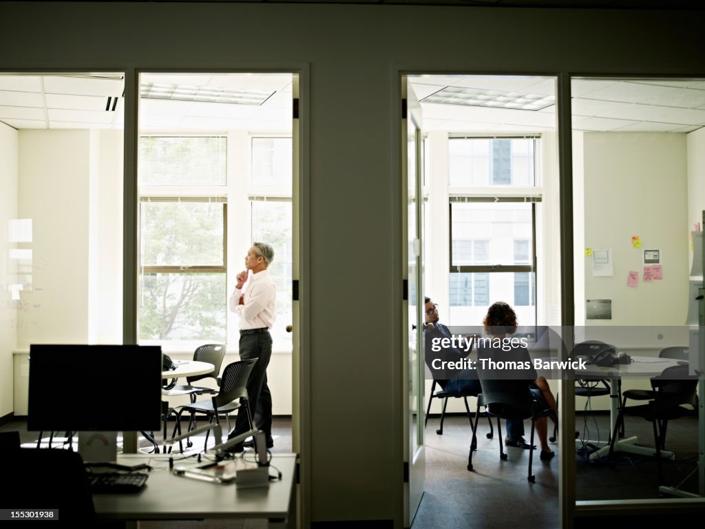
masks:
[[[685,134],[585,133],[584,245],[611,249],[613,276],[585,260],[585,298],[612,300],[611,320],[587,325],[684,325],[688,293]],[[643,248],[632,245],[639,236]],[[643,281],[642,250],[661,249],[663,279]],[[636,287],[628,272],[639,272]],[[624,345],[628,344],[615,344]],[[677,345],[677,344],[675,344]]]

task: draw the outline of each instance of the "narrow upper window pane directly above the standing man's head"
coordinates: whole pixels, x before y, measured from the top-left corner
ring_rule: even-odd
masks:
[[[291,138],[252,138],[252,186],[291,187]]]

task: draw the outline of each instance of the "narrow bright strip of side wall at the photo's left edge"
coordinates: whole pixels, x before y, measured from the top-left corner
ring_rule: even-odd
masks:
[[[17,341],[17,309],[9,284],[16,282],[16,262],[10,259],[8,225],[17,218],[18,133],[0,123],[0,418],[13,411],[13,355]]]

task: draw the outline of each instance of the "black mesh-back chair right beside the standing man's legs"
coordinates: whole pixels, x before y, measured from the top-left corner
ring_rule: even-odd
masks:
[[[238,413],[242,413],[239,408],[244,408],[245,413],[247,413],[247,425],[252,430],[252,415],[250,413],[249,397],[247,396],[247,380],[250,379],[250,372],[252,372],[252,367],[255,366],[257,360],[258,358],[251,358],[250,360],[239,360],[226,365],[223,370],[223,377],[221,377],[220,391],[216,395],[212,396],[211,399],[204,399],[175,408],[173,413],[176,415],[176,426],[171,437],[176,437],[177,432],[181,434],[181,415],[185,411],[191,414],[188,422],[189,430],[193,427],[195,416],[198,413],[206,415],[210,422],[216,420],[219,424],[220,415],[225,415],[228,421],[228,430],[230,430],[230,413],[235,410],[238,410]],[[205,443],[208,442],[209,433],[206,432]],[[179,446],[181,451],[183,451],[181,442],[179,442]]]

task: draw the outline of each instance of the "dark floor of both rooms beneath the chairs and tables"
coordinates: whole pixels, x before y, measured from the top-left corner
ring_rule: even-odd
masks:
[[[584,439],[608,437],[608,415],[578,415],[576,428]],[[468,528],[505,529],[558,527],[558,458],[544,463],[534,452],[536,482],[527,482],[528,451],[505,448],[501,461],[498,442],[487,439],[486,418],[478,428],[478,446],[473,455],[474,471],[467,470],[470,425],[465,415],[446,418],[443,434],[436,434],[439,418],[431,416],[426,428],[426,482],[424,496],[412,529]],[[504,427],[504,425],[503,425]],[[639,443],[653,446],[651,423],[627,418],[627,434],[639,436]],[[529,424],[527,423],[527,438]],[[0,427],[19,430],[23,442],[36,442],[35,432],[26,431],[24,420]],[[496,425],[495,425],[496,431]],[[273,451],[291,451],[289,418],[275,418]],[[159,438],[159,434],[157,434]],[[142,446],[147,447],[146,442]],[[557,445],[553,445],[557,449]],[[697,490],[697,476],[687,476],[697,466],[697,419],[688,416],[668,425],[666,448],[675,451],[673,461],[663,461],[665,484],[689,492]],[[663,497],[658,492],[656,462],[648,456],[616,454],[614,464],[587,461],[576,455],[577,499],[644,499]],[[687,478],[687,479],[686,479]],[[685,480],[685,481],[683,481]],[[666,495],[666,497],[670,497]],[[264,521],[142,522],[145,529],[258,529]]]

